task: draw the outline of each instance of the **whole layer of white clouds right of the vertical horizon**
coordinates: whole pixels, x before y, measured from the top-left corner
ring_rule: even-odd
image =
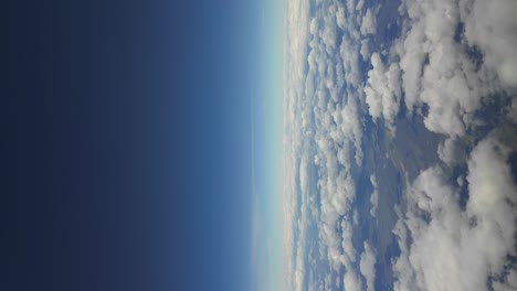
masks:
[[[365,144],[368,125],[397,139],[401,118],[423,122],[441,142],[433,152],[440,160],[418,169],[397,206],[394,289],[517,285],[507,259],[516,255],[511,149],[500,134],[473,136],[487,127],[481,112],[494,103],[508,105],[504,118],[517,121],[517,19],[508,12],[516,4],[402,0],[395,37],[380,40],[387,10],[355,0],[287,1],[286,289],[374,289],[377,244],[362,237],[358,244],[357,234],[361,222],[381,213],[383,185],[368,174],[371,208],[362,214],[357,179],[372,147]],[[467,172],[453,177],[462,166]]]

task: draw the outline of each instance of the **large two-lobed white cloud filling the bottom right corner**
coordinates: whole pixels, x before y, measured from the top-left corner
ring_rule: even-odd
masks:
[[[401,249],[393,266],[395,290],[485,290],[489,278],[513,280],[505,277],[507,256],[516,252],[517,219],[508,153],[493,138],[476,146],[464,208],[440,168],[411,184],[408,211],[393,231]]]

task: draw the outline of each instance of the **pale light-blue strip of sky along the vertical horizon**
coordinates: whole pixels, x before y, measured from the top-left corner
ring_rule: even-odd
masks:
[[[282,290],[283,1],[264,1],[252,105],[253,290]]]

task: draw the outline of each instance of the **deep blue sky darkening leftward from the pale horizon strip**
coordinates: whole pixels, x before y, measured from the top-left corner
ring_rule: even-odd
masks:
[[[2,7],[0,290],[247,290],[258,1]]]

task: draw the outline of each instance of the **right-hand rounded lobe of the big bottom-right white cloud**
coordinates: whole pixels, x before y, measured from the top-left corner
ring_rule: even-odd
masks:
[[[489,242],[487,250],[492,272],[500,266],[500,257],[514,249],[516,242],[517,191],[506,160],[509,149],[493,139],[485,140],[473,150],[468,161],[468,192],[466,206],[475,217],[476,238]]]

